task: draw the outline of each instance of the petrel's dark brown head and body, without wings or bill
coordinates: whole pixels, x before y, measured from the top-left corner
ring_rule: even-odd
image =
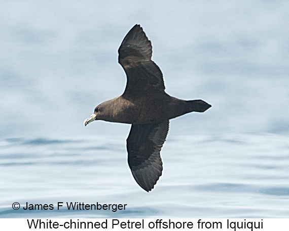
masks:
[[[126,99],[121,95],[98,106],[98,110],[103,112],[98,119],[128,124],[156,123],[192,112],[196,110],[196,104],[201,106],[202,103],[201,100],[179,100],[166,93],[135,99]],[[203,106],[206,107],[205,104]]]

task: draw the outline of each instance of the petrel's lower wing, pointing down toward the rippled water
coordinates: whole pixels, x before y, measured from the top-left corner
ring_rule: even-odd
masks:
[[[132,124],[127,137],[128,165],[139,186],[151,191],[163,170],[160,156],[166,140],[169,121]]]

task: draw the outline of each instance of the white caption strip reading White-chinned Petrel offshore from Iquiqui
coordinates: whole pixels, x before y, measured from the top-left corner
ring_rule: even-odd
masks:
[[[232,230],[289,231],[288,219],[270,218],[14,218],[0,219],[1,230]]]

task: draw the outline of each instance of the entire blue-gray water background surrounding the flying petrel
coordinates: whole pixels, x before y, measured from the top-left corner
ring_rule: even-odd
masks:
[[[288,217],[287,1],[5,0],[0,22],[1,218]],[[117,50],[136,23],[167,93],[212,105],[171,120],[150,193],[127,164],[130,126],[83,124],[122,94]]]

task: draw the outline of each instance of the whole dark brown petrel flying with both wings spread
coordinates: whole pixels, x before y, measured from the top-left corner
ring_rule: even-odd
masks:
[[[127,33],[119,48],[119,63],[127,83],[124,93],[94,109],[94,120],[129,123],[128,165],[139,186],[151,191],[162,174],[160,156],[169,120],[189,112],[204,112],[211,105],[202,100],[179,100],[165,93],[163,75],[151,60],[152,44],[139,25]]]

